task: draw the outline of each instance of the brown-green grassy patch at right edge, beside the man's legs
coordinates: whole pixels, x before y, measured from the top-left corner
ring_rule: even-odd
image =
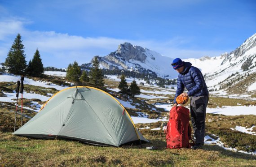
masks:
[[[231,130],[235,126],[251,128],[255,125],[256,116],[223,116],[207,114],[206,130],[208,133],[215,134],[221,138],[226,147],[237,148],[243,151],[256,150],[256,136]],[[256,128],[252,130],[256,132]]]

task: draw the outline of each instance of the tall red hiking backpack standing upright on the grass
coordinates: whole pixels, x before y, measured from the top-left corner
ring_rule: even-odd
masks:
[[[194,146],[191,137],[190,110],[186,107],[175,106],[170,111],[170,119],[165,131],[167,148],[179,149]],[[190,140],[193,143],[190,143]]]

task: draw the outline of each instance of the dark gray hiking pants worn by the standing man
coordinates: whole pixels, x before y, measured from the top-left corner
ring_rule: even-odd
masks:
[[[195,143],[204,143],[205,116],[209,96],[191,97],[190,114],[194,130]]]

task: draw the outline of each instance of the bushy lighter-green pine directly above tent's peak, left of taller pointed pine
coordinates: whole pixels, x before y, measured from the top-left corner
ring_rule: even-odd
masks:
[[[80,76],[81,76],[81,69],[77,61],[74,61],[73,64],[69,64],[66,70],[66,79],[70,81],[79,81]]]

